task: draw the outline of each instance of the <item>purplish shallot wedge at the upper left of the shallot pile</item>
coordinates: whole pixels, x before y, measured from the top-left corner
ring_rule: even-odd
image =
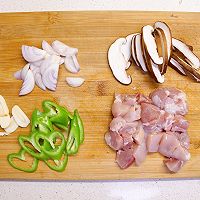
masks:
[[[22,45],[22,56],[27,62],[36,62],[42,60],[46,51],[33,46]]]

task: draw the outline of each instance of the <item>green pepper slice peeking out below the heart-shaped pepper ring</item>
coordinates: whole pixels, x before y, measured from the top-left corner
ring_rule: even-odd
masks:
[[[67,153],[64,151],[63,155],[64,158],[63,160],[53,160],[53,162],[55,163],[55,165],[53,165],[49,160],[44,160],[44,162],[47,164],[47,166],[57,172],[63,172],[67,166],[67,162],[68,162],[68,155]]]

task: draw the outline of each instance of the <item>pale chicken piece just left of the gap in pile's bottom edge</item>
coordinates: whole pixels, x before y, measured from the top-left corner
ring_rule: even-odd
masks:
[[[146,142],[144,141],[142,144],[134,144],[133,145],[133,156],[135,158],[135,164],[137,166],[141,165],[141,163],[145,160],[147,155]]]

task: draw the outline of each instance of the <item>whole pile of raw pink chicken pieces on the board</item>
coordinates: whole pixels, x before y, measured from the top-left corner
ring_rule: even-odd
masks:
[[[187,112],[186,95],[176,88],[156,89],[149,97],[115,95],[105,141],[116,150],[119,167],[139,166],[147,152],[159,152],[168,170],[178,172],[190,159]]]

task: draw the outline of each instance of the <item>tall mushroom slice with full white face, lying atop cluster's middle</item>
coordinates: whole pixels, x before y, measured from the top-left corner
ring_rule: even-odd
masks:
[[[150,25],[144,26],[142,28],[142,37],[143,42],[146,47],[146,51],[148,52],[151,60],[157,64],[161,65],[163,64],[163,58],[159,56],[157,51],[157,45],[155,38],[153,36],[154,28]]]

